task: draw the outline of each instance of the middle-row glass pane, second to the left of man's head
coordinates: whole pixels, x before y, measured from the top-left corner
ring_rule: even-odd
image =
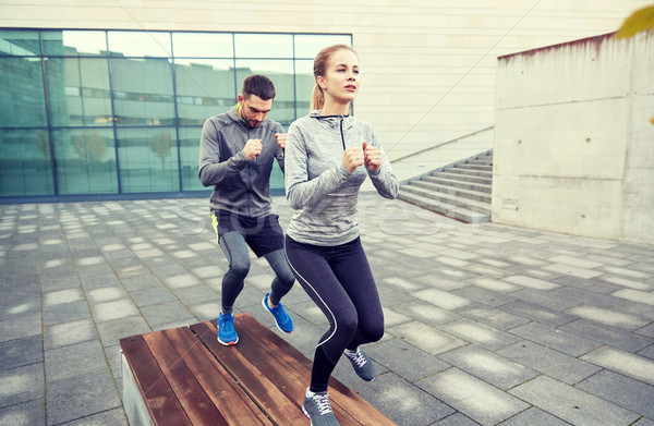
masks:
[[[173,125],[172,68],[166,59],[112,59],[111,83],[119,125]]]

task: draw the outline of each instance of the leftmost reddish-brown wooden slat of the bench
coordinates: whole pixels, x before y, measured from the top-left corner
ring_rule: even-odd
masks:
[[[192,426],[143,336],[121,339],[120,346],[130,360],[130,368],[153,422]]]

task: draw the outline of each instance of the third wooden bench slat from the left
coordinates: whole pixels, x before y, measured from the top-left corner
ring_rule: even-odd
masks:
[[[191,329],[184,327],[164,332],[228,424],[271,424]]]

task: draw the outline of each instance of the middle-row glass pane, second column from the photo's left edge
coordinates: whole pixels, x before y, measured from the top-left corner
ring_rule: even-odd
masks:
[[[46,76],[53,125],[111,125],[106,59],[50,58]]]

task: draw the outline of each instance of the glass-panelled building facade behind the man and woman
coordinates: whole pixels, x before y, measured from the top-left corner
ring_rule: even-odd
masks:
[[[0,202],[206,193],[204,121],[265,74],[284,129],[308,112],[313,58],[343,34],[0,29]],[[283,192],[275,167],[271,191]]]

